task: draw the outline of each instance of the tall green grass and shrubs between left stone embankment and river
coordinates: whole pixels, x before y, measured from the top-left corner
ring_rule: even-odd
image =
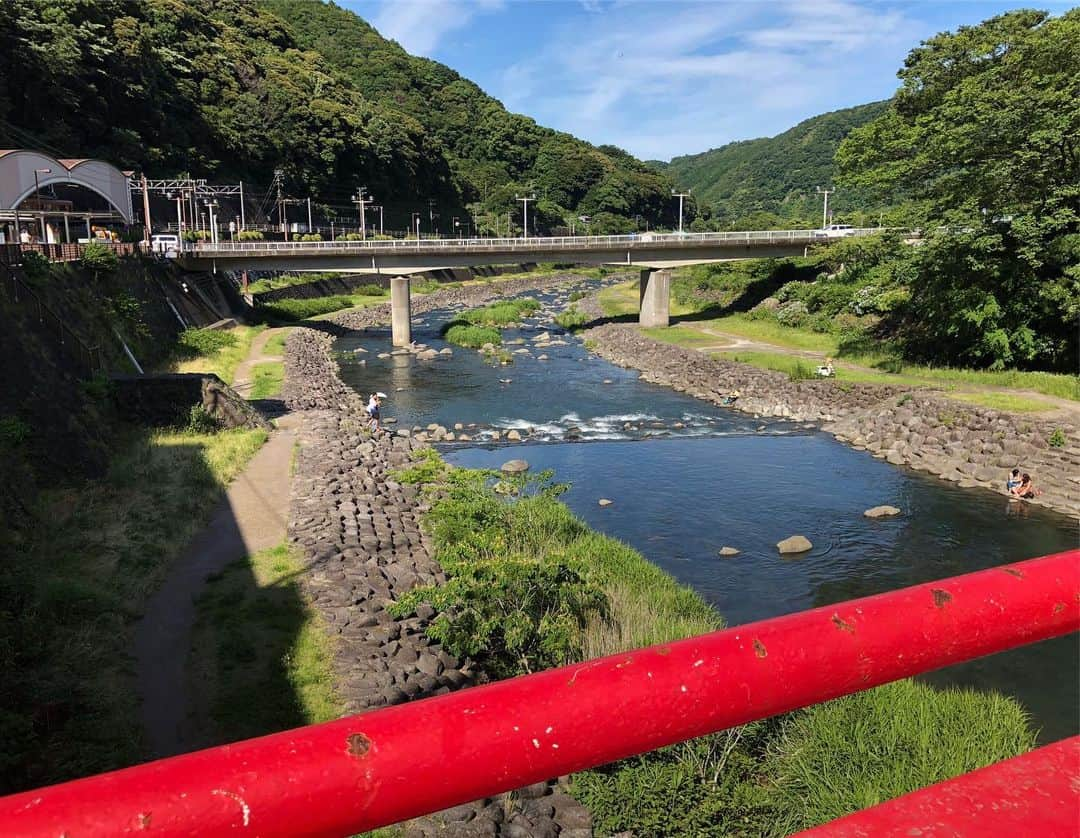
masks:
[[[426,452],[399,478],[437,489],[427,526],[449,581],[396,608],[431,603],[431,635],[496,676],[723,624],[693,591],[590,530],[551,475],[450,470]],[[602,835],[779,836],[1032,743],[1012,700],[901,681],[586,771],[572,788]]]

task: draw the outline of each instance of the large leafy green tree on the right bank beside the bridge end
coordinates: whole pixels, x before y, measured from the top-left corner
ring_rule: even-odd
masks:
[[[1080,10],[1017,11],[913,50],[839,183],[904,187],[931,230],[904,337],[927,360],[1076,369]],[[951,229],[939,229],[951,226]]]

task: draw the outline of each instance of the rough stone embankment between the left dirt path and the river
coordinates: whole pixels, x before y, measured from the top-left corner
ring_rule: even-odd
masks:
[[[509,285],[500,283],[490,296],[509,293]],[[465,289],[421,299],[435,308],[485,298],[459,290]],[[383,309],[381,316],[378,308]],[[388,316],[388,307],[377,307],[341,319],[356,327],[383,323]],[[283,395],[292,409],[305,411],[288,539],[307,571],[301,576],[305,592],[333,638],[338,695],[347,713],[359,713],[446,693],[483,680],[483,674],[473,662],[457,659],[428,637],[435,617],[430,606],[403,618],[387,610],[414,586],[446,580],[420,525],[428,506],[415,486],[394,479],[422,444],[370,433],[361,398],[338,376],[333,339],[324,332],[296,328],[285,344]],[[592,817],[566,794],[565,781],[538,783],[418,819],[405,825],[404,834],[586,838]]]

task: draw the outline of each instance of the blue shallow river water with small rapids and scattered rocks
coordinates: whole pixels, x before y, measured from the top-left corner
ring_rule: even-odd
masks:
[[[532,296],[558,310],[566,294]],[[416,321],[414,339],[442,349],[438,329],[450,316]],[[534,349],[542,330],[566,343]],[[391,349],[387,330],[342,338],[336,349],[348,383],[364,395],[388,393],[383,417],[397,427],[476,423],[467,429],[474,437],[487,427],[531,429],[535,442],[454,444],[444,455],[467,467],[521,457],[534,469],[554,469],[571,484],[563,499],[578,515],[693,586],[731,625],[1077,545],[1076,523],[1064,515],[890,465],[805,425],[648,384],[591,355],[542,315],[504,338],[525,339],[530,353],[510,366],[460,348],[437,361],[378,359]],[[602,508],[599,498],[613,502]],[[903,514],[863,516],[882,503]],[[794,533],[813,549],[781,557],[775,543]],[[724,545],[741,553],[721,558]],[[1078,661],[1074,635],[924,679],[1015,695],[1041,739],[1052,741],[1080,727]]]

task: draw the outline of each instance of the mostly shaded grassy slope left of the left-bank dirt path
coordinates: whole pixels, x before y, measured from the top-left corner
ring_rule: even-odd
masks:
[[[132,625],[266,438],[133,432],[105,477],[44,494],[0,569],[0,789],[139,759]]]

